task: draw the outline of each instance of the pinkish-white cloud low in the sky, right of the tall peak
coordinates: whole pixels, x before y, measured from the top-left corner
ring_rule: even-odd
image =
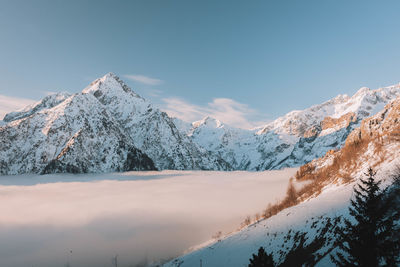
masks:
[[[175,97],[164,98],[163,102],[165,104],[163,109],[168,115],[187,122],[211,116],[226,124],[244,129],[251,129],[267,122],[267,120],[255,120],[261,116],[256,110],[230,98],[214,98],[205,106],[191,104]]]

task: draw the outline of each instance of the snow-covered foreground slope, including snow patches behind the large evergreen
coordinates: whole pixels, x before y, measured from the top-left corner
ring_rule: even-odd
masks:
[[[384,186],[390,183],[388,178],[393,164],[381,165],[378,179]],[[365,171],[365,170],[364,170]],[[361,177],[363,170],[359,170],[356,177]],[[304,244],[309,244],[321,234],[325,226],[335,229],[339,221],[337,217],[349,218],[348,208],[353,195],[356,181],[345,185],[329,185],[315,198],[310,198],[297,206],[287,208],[275,216],[253,223],[242,230],[223,237],[221,240],[209,242],[192,248],[186,255],[178,257],[164,267],[203,266],[209,267],[244,267],[248,266],[249,258],[256,253],[259,247],[264,247],[272,253],[274,261],[282,263],[287,252],[300,241],[296,233],[304,233]],[[340,225],[340,224],[339,224]],[[322,235],[326,244],[318,250],[321,259],[316,266],[335,266],[330,260],[335,236],[332,232]]]

